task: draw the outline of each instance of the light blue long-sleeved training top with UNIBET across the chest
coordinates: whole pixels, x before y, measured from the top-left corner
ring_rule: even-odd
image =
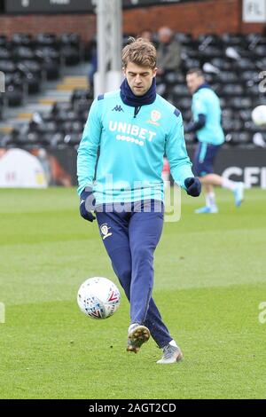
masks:
[[[96,98],[78,149],[78,193],[93,188],[96,204],[163,201],[161,170],[167,155],[177,185],[194,177],[180,112],[157,94],[153,104],[125,105],[120,90]],[[98,155],[99,151],[99,155]],[[96,169],[97,165],[97,169]]]

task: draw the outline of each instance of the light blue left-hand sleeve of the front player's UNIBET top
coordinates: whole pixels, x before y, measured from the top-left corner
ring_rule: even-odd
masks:
[[[82,193],[86,186],[92,187],[93,185],[98,156],[98,146],[100,144],[102,132],[99,106],[100,101],[95,99],[90,107],[89,117],[78,148],[77,176],[79,194]]]

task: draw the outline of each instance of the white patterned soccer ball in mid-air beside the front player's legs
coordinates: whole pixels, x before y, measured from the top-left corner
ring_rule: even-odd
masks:
[[[82,283],[77,294],[81,311],[91,319],[108,319],[121,300],[118,287],[110,279],[93,277]]]

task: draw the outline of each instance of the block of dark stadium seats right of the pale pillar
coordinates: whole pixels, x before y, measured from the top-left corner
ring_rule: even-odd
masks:
[[[266,37],[258,34],[223,34],[220,37],[200,35],[193,40],[178,34],[176,38],[182,43],[183,76],[190,67],[205,68],[207,63],[213,66],[206,78],[221,99],[223,129],[228,143],[252,143],[258,127],[251,122],[251,112],[254,106],[266,101],[265,93],[259,88],[262,81],[260,73],[266,65]],[[168,74],[159,83],[165,83],[165,98],[182,111],[184,122],[189,122],[190,94],[182,78],[179,85],[177,76]],[[266,132],[265,128],[261,130],[262,134]]]

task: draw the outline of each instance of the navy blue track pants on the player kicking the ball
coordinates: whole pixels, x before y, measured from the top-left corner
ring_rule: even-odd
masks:
[[[162,322],[152,292],[153,252],[162,231],[163,203],[152,203],[155,204],[149,212],[145,211],[145,201],[134,203],[135,211],[132,211],[133,203],[126,203],[123,211],[121,206],[117,210],[111,205],[111,211],[110,205],[104,205],[100,211],[96,209],[96,216],[113,271],[130,302],[131,323],[148,327],[162,348],[172,337]]]

